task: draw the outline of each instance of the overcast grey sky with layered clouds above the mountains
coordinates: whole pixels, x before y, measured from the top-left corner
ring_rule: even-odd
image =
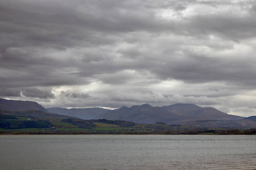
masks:
[[[1,0],[0,97],[256,115],[256,1]]]

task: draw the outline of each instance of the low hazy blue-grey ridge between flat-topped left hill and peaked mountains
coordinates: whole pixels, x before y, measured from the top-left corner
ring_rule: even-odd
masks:
[[[101,115],[110,110],[103,109],[103,108],[80,108],[80,109],[47,108],[47,111],[50,113],[63,114],[67,116],[75,116],[85,120],[90,120],[90,119],[103,118]]]

